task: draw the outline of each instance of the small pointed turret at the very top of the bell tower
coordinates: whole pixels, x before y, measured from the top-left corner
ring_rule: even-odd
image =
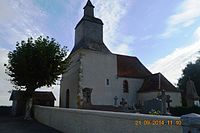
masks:
[[[94,17],[94,6],[92,5],[90,0],[87,1],[87,4],[83,9],[84,9],[84,16]]]

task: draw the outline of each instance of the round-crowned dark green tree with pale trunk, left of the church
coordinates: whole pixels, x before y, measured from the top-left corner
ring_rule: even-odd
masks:
[[[66,47],[61,48],[55,39],[42,36],[17,42],[16,49],[9,52],[6,73],[16,87],[26,89],[25,118],[30,118],[34,91],[56,84],[59,75],[64,72],[68,64],[66,55]]]

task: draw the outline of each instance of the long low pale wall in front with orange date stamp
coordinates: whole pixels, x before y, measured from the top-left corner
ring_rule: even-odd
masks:
[[[34,106],[39,122],[65,133],[182,133],[179,117]]]

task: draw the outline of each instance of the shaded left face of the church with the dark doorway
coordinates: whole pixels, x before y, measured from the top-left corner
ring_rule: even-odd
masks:
[[[77,90],[78,90],[78,74],[79,74],[79,55],[76,54],[71,58],[72,62],[68,67],[67,71],[62,75],[60,85],[60,106],[66,107],[66,93],[69,89],[69,107],[77,107]]]

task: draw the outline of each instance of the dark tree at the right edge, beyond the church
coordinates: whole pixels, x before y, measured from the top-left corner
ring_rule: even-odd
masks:
[[[182,90],[182,101],[183,105],[186,106],[185,102],[185,92],[186,92],[186,83],[188,79],[191,79],[196,87],[198,95],[200,95],[200,58],[195,61],[195,63],[189,63],[183,69],[182,77],[178,81],[178,87]]]

